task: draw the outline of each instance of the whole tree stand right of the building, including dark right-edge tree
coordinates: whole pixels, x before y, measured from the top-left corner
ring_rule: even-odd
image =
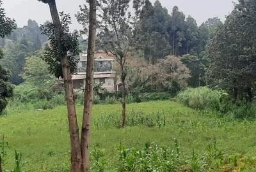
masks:
[[[138,50],[134,57],[148,64],[128,64],[130,76],[138,76],[129,90],[179,91],[207,85],[225,90],[234,102],[252,102],[256,83],[255,11],[255,1],[239,1],[224,23],[215,17],[198,27],[196,20],[186,17],[177,6],[168,13],[159,1],[154,5],[145,1],[134,26]],[[179,68],[179,62],[168,64],[168,55],[178,57],[190,76],[183,77],[182,82],[177,80],[186,68]],[[161,65],[161,59],[169,70]]]

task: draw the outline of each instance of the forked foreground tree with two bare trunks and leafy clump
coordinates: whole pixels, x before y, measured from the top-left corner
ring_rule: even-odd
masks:
[[[71,171],[89,171],[89,139],[90,139],[90,118],[92,116],[93,99],[93,66],[95,54],[96,37],[96,7],[97,1],[90,0],[89,13],[89,38],[88,38],[88,57],[86,68],[86,87],[84,92],[84,113],[81,131],[81,142],[79,139],[79,129],[77,126],[76,104],[72,87],[72,73],[76,69],[76,55],[79,52],[79,41],[77,31],[69,33],[68,24],[70,17],[61,13],[61,20],[58,15],[55,0],[42,0],[49,4],[53,24],[42,27],[44,33],[51,40],[51,47],[45,54],[45,61],[50,65],[50,71],[57,77],[63,77],[65,94],[68,108],[68,123],[71,141]]]

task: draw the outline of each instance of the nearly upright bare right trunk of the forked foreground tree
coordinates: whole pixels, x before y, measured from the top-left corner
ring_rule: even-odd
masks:
[[[84,92],[84,113],[81,132],[81,154],[83,172],[88,172],[89,168],[89,143],[90,143],[90,120],[92,117],[93,103],[93,67],[96,39],[96,0],[90,0],[90,25],[88,38],[88,56],[86,66],[86,85]]]

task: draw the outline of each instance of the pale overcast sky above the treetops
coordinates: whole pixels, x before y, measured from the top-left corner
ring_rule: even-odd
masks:
[[[83,4],[85,1],[56,0],[58,10],[70,13],[72,16],[72,29],[81,29],[81,25],[77,24],[74,15],[79,10],[79,4]],[[150,1],[154,3],[156,0]],[[211,17],[219,17],[224,21],[225,16],[234,8],[233,1],[237,2],[237,0],[160,0],[169,13],[176,5],[186,16],[191,15],[195,18],[198,25]],[[48,6],[36,0],[3,0],[3,7],[8,17],[15,18],[19,27],[26,25],[29,18],[36,20],[39,24],[51,19]]]

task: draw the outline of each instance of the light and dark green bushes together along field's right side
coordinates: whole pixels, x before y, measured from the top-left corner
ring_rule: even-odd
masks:
[[[238,119],[256,118],[255,103],[246,103],[244,101],[234,103],[227,93],[207,87],[186,89],[177,95],[177,101],[198,110],[218,110],[221,116],[228,115]]]

